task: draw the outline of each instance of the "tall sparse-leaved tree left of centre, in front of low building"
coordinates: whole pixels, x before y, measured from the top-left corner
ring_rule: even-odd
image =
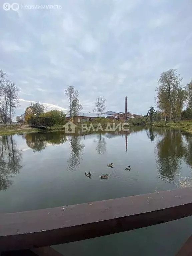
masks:
[[[78,99],[79,92],[75,90],[74,86],[70,85],[65,90],[65,95],[68,97],[69,100],[69,116],[77,116],[79,111],[82,110],[82,105],[79,103]]]

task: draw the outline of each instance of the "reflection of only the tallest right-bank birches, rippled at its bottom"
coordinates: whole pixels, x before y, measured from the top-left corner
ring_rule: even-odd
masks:
[[[180,131],[165,130],[157,142],[157,165],[162,178],[173,180],[178,174],[179,164],[184,155],[184,141]]]

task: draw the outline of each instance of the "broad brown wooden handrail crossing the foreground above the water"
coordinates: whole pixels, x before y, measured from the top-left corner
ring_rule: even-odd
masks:
[[[68,243],[192,215],[192,188],[0,214],[0,251]]]

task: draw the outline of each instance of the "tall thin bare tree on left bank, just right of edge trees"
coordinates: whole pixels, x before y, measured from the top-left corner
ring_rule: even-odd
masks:
[[[9,104],[9,123],[11,124],[11,117],[14,114],[14,109],[19,107],[19,88],[15,85],[15,83],[11,81],[6,82],[5,94],[8,98]]]

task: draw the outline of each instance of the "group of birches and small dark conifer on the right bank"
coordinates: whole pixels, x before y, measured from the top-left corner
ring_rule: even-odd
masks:
[[[156,106],[148,110],[150,121],[192,119],[192,79],[182,86],[182,77],[176,69],[162,72],[158,79],[155,97]],[[183,111],[184,106],[186,110]]]

